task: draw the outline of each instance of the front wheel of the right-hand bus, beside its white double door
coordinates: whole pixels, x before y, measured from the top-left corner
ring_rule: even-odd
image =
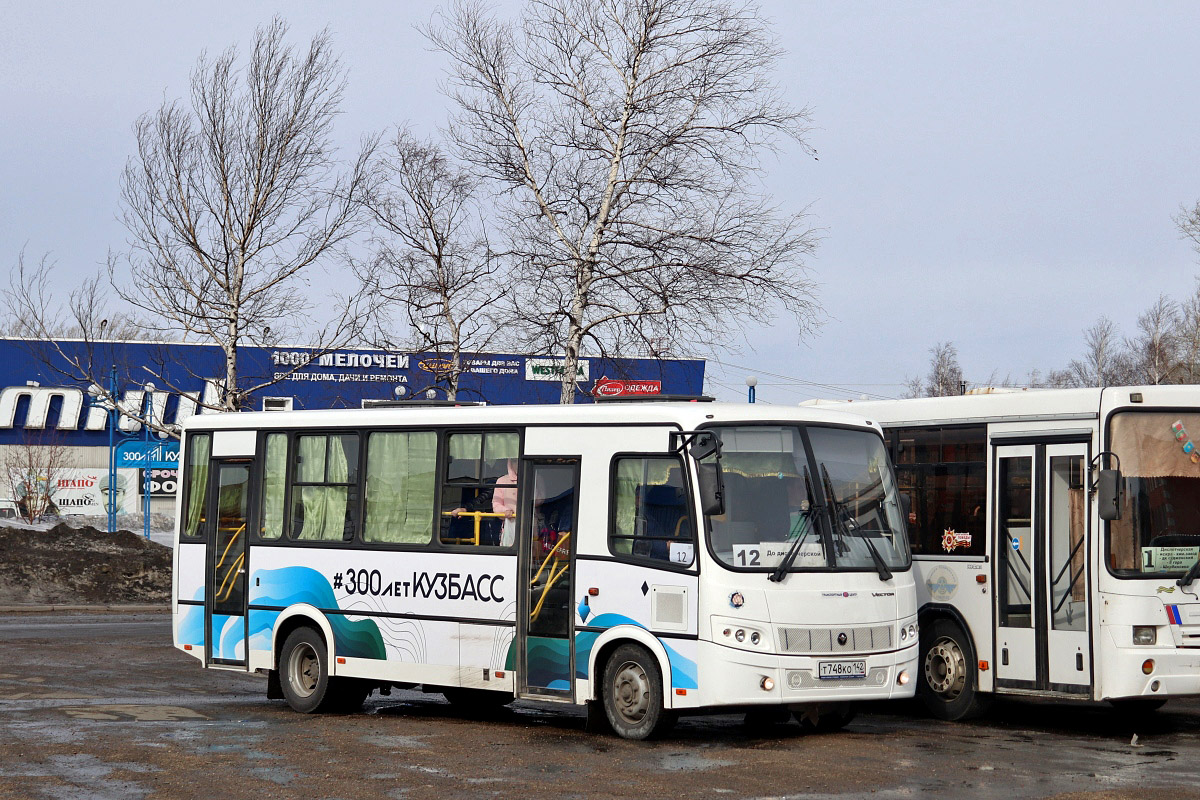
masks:
[[[920,626],[917,694],[938,720],[970,720],[985,709],[971,639],[958,624],[936,619]]]

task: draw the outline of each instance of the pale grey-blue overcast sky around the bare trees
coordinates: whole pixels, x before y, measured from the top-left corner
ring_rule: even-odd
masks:
[[[0,1],[0,266],[50,252],[67,284],[122,247],[133,120],[186,92],[202,50],[245,46],[275,13],[296,41],[331,28],[347,144],[404,121],[434,133],[444,61],[413,26],[436,7]],[[823,231],[810,267],[828,318],[803,343],[786,320],[751,330],[709,362],[709,391],[740,398],[752,373],[760,402],[898,396],[938,341],[970,380],[1022,381],[1078,356],[1100,314],[1132,335],[1160,293],[1193,291],[1196,254],[1172,217],[1200,199],[1200,6],[763,10],[820,154],[786,149],[768,182]]]

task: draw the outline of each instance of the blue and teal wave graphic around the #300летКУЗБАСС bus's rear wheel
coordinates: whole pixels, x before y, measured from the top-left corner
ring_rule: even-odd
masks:
[[[311,567],[286,566],[278,570],[258,570],[251,578],[253,594],[250,602],[252,604],[286,608],[296,603],[308,603],[323,609],[341,608],[329,581]],[[330,627],[334,628],[335,655],[349,658],[388,657],[383,636],[374,620],[349,620],[343,614],[329,614],[326,619]],[[274,625],[274,620],[270,621]],[[260,631],[251,631],[252,636],[254,633],[260,633]]]

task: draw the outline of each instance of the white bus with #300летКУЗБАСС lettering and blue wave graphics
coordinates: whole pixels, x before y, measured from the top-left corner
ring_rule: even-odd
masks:
[[[912,697],[878,427],[701,402],[212,414],[184,426],[174,642],[298,711],[392,686],[835,728]]]

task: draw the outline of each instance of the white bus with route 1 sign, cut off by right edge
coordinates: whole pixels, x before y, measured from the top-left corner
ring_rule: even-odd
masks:
[[[883,426],[908,509],[935,715],[1200,694],[1200,387],[845,408]]]

